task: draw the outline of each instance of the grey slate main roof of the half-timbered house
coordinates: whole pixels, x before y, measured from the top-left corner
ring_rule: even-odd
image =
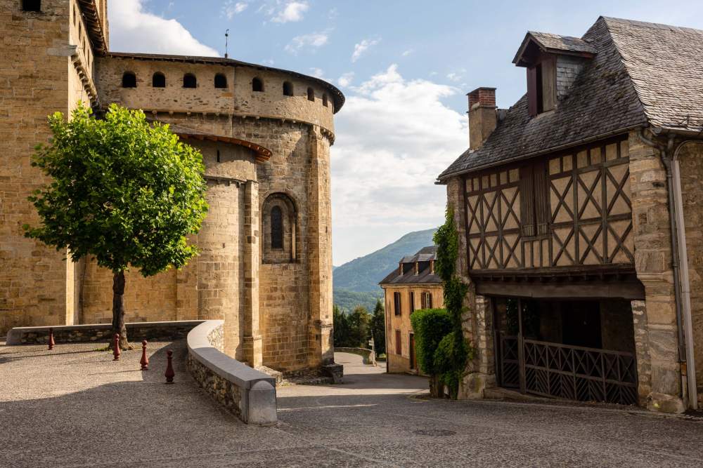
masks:
[[[703,31],[600,17],[582,39],[597,53],[554,111],[530,118],[524,95],[482,147],[461,154],[439,180],[647,123],[703,129]]]

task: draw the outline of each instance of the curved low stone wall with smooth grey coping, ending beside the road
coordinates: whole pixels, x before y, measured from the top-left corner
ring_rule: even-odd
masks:
[[[247,424],[276,424],[276,380],[227,356],[222,320],[188,333],[188,370],[200,387]]]

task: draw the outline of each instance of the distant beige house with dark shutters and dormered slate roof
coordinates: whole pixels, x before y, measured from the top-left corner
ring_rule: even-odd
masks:
[[[380,282],[385,293],[386,355],[389,373],[417,373],[415,339],[410,316],[419,309],[444,307],[441,279],[434,273],[437,247],[404,257]]]

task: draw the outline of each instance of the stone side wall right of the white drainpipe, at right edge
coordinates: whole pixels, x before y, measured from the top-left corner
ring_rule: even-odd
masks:
[[[683,145],[679,164],[696,380],[698,386],[703,387],[703,142]]]

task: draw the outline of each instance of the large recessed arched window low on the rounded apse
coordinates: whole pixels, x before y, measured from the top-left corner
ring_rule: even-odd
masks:
[[[283,193],[266,197],[262,206],[262,262],[292,263],[297,261],[299,235],[295,202]]]

